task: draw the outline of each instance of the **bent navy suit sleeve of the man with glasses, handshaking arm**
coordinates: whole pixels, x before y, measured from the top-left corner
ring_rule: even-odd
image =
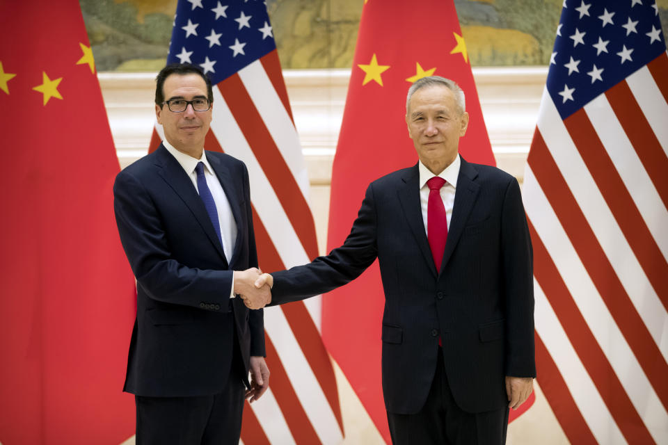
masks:
[[[191,268],[173,259],[158,209],[127,170],[116,176],[113,195],[120,241],[138,286],[154,300],[198,309],[205,301],[227,312],[232,270]]]

